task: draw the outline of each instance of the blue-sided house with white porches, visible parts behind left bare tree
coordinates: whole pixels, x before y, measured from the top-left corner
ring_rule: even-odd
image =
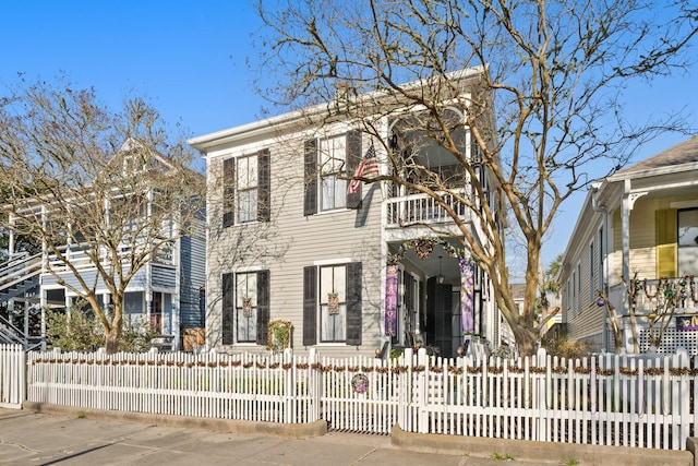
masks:
[[[129,151],[130,141],[127,141],[117,153]],[[123,160],[124,169],[133,170],[133,164],[129,157]],[[156,154],[156,169],[167,170],[169,163],[167,157]],[[202,177],[203,178],[203,177]],[[202,180],[203,181],[203,180]],[[46,208],[41,200],[36,200],[34,208]],[[50,199],[48,201],[50,203]],[[149,215],[152,208],[152,194],[149,192],[133,193],[129,196],[120,195],[118,199],[101,201],[104,208],[108,210],[116,202],[139,202],[143,205],[140,212]],[[50,205],[50,204],[49,204]],[[173,238],[158,249],[157,254],[149,259],[146,266],[142,267],[131,279],[125,292],[124,320],[127,322],[149,322],[156,331],[163,335],[172,337],[172,347],[181,349],[184,335],[190,335],[190,342],[195,340],[197,333],[202,334],[205,326],[205,315],[201,303],[201,292],[205,285],[205,213],[201,212],[198,231],[191,236],[179,234],[180,225],[177,216],[161,226],[163,239]],[[0,343],[2,335],[4,340],[36,339],[45,337],[46,309],[70,309],[77,304],[76,295],[69,288],[61,286],[57,277],[49,272],[52,270],[69,284],[76,285],[75,275],[51,254],[47,248],[41,252],[28,254],[15,252],[14,235],[10,234],[10,259],[0,265],[0,303],[14,310],[14,314],[24,314],[20,322],[0,322]],[[65,236],[68,238],[68,236]],[[136,240],[137,241],[137,240]],[[59,244],[60,246],[60,244]],[[135,246],[123,244],[125,251]],[[72,264],[75,264],[81,276],[86,283],[96,283],[97,295],[100,296],[105,307],[109,306],[109,294],[99,277],[95,265],[85,253],[84,243],[72,243],[68,240],[61,251]],[[108,256],[105,255],[105,261]],[[108,267],[108,266],[106,266]],[[79,287],[79,286],[77,286]],[[88,309],[86,307],[85,309]],[[28,325],[29,313],[41,314],[41,335],[32,335]],[[12,313],[11,313],[12,314]],[[191,345],[189,345],[191,346]]]

